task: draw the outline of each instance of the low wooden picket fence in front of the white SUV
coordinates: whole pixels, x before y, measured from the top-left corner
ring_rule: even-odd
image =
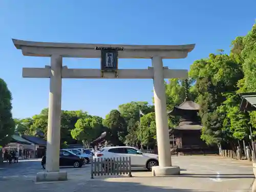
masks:
[[[97,158],[91,162],[91,179],[94,176],[128,175],[132,177],[131,157]]]

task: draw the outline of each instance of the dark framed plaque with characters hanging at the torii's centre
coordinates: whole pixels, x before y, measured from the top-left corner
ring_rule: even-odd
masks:
[[[101,50],[101,77],[104,72],[114,72],[118,78],[118,51],[122,51],[120,47],[95,47],[95,50]]]

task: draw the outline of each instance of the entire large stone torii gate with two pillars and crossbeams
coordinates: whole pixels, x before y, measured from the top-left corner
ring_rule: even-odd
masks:
[[[61,79],[153,79],[159,166],[152,168],[154,176],[177,175],[178,166],[172,166],[166,113],[164,78],[187,78],[187,70],[163,67],[162,59],[186,58],[195,44],[179,46],[71,44],[34,42],[13,39],[25,56],[50,57],[51,66],[23,68],[23,77],[50,78],[49,116],[47,133],[46,172],[37,174],[37,181],[67,180],[67,173],[59,171]],[[101,58],[101,69],[69,69],[62,66],[62,57]],[[118,69],[120,58],[152,59],[147,69]]]

